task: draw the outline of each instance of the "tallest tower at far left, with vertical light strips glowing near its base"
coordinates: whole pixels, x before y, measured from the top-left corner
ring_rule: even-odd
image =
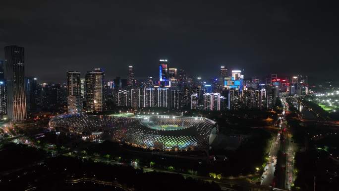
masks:
[[[27,118],[25,96],[24,48],[7,46],[5,52],[4,78],[7,83],[7,113],[11,121]]]

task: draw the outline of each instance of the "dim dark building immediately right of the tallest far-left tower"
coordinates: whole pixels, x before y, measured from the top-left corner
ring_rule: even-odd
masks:
[[[35,111],[36,98],[38,95],[37,78],[25,77],[26,105],[27,111]]]

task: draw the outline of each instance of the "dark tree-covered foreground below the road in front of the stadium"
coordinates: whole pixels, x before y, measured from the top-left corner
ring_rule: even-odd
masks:
[[[4,145],[3,147],[7,147]],[[21,148],[21,145],[9,145]],[[36,161],[37,151],[23,147],[15,148],[17,152],[11,153],[11,159],[17,158],[16,162],[29,161],[29,164]],[[22,151],[24,150],[24,151]],[[0,152],[2,152],[1,150]],[[26,156],[22,155],[25,152]],[[3,154],[3,152],[1,153]],[[1,155],[3,156],[3,155]],[[4,157],[1,163],[6,164]],[[27,163],[28,164],[28,163]],[[173,191],[173,190],[208,190],[218,191],[219,186],[215,183],[206,183],[189,178],[184,178],[179,174],[168,174],[158,172],[144,172],[142,169],[134,169],[123,165],[109,165],[92,160],[77,159],[72,157],[59,156],[47,158],[44,162],[36,165],[27,165],[26,163],[10,168],[20,167],[8,173],[0,169],[0,188],[1,190],[26,190],[36,187],[36,191],[60,191],[60,190],[96,190],[96,191]],[[4,168],[8,169],[8,168]],[[72,183],[74,180],[86,178],[87,180],[97,180],[98,182]],[[119,184],[121,188],[115,188],[110,184]]]

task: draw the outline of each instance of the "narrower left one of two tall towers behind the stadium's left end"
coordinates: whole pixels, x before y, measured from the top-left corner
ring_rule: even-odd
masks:
[[[68,113],[82,112],[80,72],[67,71],[67,109]]]

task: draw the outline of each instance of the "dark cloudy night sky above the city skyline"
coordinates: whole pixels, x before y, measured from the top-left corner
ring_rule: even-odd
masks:
[[[1,0],[0,59],[4,46],[23,46],[26,75],[40,82],[95,67],[126,78],[128,65],[136,78],[157,77],[159,59],[194,77],[220,65],[245,77],[338,77],[337,4],[254,1]]]

